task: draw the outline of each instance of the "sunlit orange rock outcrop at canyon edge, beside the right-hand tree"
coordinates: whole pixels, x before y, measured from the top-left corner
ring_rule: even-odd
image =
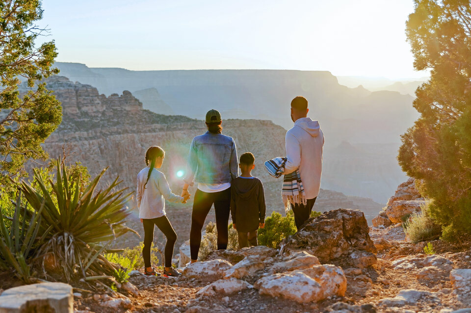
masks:
[[[373,218],[373,227],[388,227],[393,223],[403,222],[404,217],[420,212],[424,204],[425,202],[416,188],[415,179],[410,178],[407,182],[397,186],[386,209]]]

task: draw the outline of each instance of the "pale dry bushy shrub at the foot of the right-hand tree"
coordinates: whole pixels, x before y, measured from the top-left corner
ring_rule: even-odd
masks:
[[[438,226],[428,215],[431,201],[426,200],[422,206],[420,213],[409,215],[407,220],[402,224],[404,233],[412,242],[429,240],[440,235],[440,226]]]

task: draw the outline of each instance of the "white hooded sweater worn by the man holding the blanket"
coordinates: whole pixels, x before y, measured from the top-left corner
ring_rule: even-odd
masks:
[[[322,148],[324,134],[319,122],[310,117],[303,117],[294,123],[286,133],[285,173],[289,174],[299,168],[306,199],[314,199],[319,194],[320,176],[322,174]]]

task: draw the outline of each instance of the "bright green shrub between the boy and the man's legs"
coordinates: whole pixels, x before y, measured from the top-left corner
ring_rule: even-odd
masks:
[[[265,228],[259,229],[259,245],[276,248],[284,238],[294,233],[296,233],[294,217],[290,214],[282,216],[273,211],[271,216],[265,219]]]

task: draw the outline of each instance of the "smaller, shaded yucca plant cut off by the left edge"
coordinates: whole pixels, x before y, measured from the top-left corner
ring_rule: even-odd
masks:
[[[0,268],[13,269],[19,279],[30,284],[36,278],[32,277],[29,263],[51,228],[41,230],[44,206],[40,205],[37,213],[29,211],[26,206],[21,206],[20,193],[14,204],[13,217],[4,216],[0,209]],[[5,225],[6,219],[10,220],[9,229]]]

